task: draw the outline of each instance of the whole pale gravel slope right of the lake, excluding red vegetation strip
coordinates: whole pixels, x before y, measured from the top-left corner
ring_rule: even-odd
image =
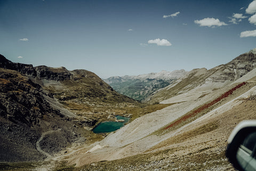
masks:
[[[177,103],[135,119],[101,142],[59,159],[67,160],[67,165],[76,165],[72,170],[234,170],[225,157],[227,139],[240,121],[256,119],[254,86],[254,82],[247,83],[185,124],[164,129],[188,111],[203,105],[205,99]],[[211,101],[230,87],[205,98]],[[182,109],[184,105],[188,108]],[[166,113],[175,114],[175,110],[179,115],[174,115],[172,121],[165,118]],[[158,125],[158,120],[161,123],[166,120],[166,124]]]

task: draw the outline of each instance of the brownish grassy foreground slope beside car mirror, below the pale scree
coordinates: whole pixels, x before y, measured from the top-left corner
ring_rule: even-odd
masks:
[[[242,120],[256,119],[255,100],[184,128],[143,154],[82,166],[82,170],[234,170],[225,157],[227,139]],[[228,119],[227,119],[228,118]]]

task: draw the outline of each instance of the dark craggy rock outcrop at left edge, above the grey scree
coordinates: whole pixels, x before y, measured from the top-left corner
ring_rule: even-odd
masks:
[[[50,108],[41,86],[22,76],[18,71],[0,68],[0,115],[24,124],[37,124]]]

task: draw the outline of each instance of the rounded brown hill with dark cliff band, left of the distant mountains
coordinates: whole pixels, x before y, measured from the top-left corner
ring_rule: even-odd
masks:
[[[135,102],[133,99],[118,94],[93,72],[87,70],[68,71],[66,68],[35,67],[35,82],[42,85],[60,101],[93,104],[114,104]]]

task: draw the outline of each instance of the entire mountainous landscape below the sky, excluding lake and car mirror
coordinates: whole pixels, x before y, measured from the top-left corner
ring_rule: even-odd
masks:
[[[143,91],[151,86],[142,93],[147,103],[87,70],[33,67],[0,55],[0,161],[23,161],[31,170],[234,170],[225,157],[228,136],[240,121],[256,119],[256,48],[209,70],[106,82],[125,89],[134,80]],[[115,132],[92,132],[116,115],[131,119]],[[5,170],[14,166],[28,169],[0,162]]]

